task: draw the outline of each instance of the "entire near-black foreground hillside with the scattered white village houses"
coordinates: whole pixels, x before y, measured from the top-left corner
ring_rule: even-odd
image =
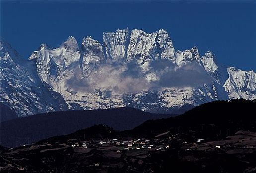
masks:
[[[1,172],[254,173],[256,100],[206,103],[133,130],[95,125],[1,148]]]

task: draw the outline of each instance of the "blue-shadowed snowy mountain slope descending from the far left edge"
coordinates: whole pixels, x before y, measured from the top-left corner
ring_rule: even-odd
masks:
[[[0,41],[0,100],[17,115],[67,110],[62,96],[37,75],[32,62],[25,61],[4,40]]]

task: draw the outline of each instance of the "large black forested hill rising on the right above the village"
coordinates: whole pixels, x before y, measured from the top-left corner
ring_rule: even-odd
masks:
[[[256,131],[256,100],[230,100],[205,103],[176,117],[148,120],[128,135],[154,136],[165,131],[183,131],[191,136],[223,137],[238,130]]]

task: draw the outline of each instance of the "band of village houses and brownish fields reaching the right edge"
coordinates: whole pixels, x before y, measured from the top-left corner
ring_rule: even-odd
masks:
[[[246,142],[246,144],[245,144]],[[236,150],[256,149],[256,135],[248,131],[238,131],[234,136],[229,136],[220,141],[207,141],[199,138],[194,139],[194,142],[188,142],[180,138],[180,134],[171,135],[168,132],[159,134],[153,139],[105,139],[105,140],[87,140],[77,141],[69,139],[67,144],[71,145],[74,152],[89,153],[96,149],[101,151],[108,158],[119,158],[122,153],[127,156],[134,156],[139,159],[144,159],[152,153],[165,152],[179,146],[184,151],[218,151],[236,153]],[[95,163],[94,166],[99,166],[100,163]]]

